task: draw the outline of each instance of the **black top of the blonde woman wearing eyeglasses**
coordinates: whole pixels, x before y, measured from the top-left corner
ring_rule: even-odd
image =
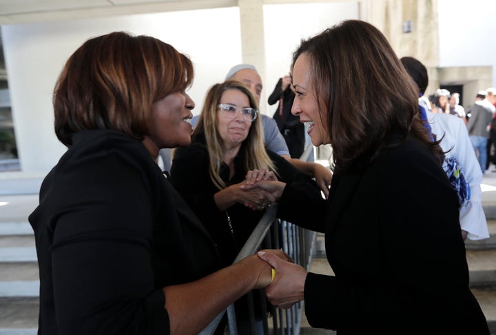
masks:
[[[267,153],[276,165],[280,180],[294,183],[301,192],[307,192],[311,196],[322,199],[320,190],[309,176],[300,172],[278,154],[269,150]],[[232,205],[226,211],[219,210],[214,201],[214,194],[219,190],[211,181],[209,161],[205,136],[197,136],[189,147],[176,149],[170,181],[207,227],[218,245],[223,264],[230,265],[264,212],[250,210],[240,203]],[[245,180],[247,170],[242,167],[241,153],[234,159],[234,169],[234,176],[230,180],[227,164],[223,163],[220,169],[220,177],[227,186]],[[234,236],[229,229],[227,215],[231,221]]]

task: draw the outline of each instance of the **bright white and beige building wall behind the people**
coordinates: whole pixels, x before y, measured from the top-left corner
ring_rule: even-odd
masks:
[[[240,0],[239,7],[188,10],[125,17],[2,26],[10,101],[21,170],[45,174],[65,148],[53,133],[52,90],[65,60],[86,39],[114,30],[149,34],[189,54],[196,78],[189,92],[198,114],[206,90],[223,81],[236,63],[258,66],[264,92],[260,110],[276,81],[289,70],[300,39],[343,19],[377,26],[399,57],[413,56],[428,66],[427,94],[439,85],[464,85],[464,105],[477,90],[496,85],[496,31],[493,0],[316,1],[287,5]],[[403,23],[412,31],[403,32]],[[256,27],[256,29],[254,28]]]

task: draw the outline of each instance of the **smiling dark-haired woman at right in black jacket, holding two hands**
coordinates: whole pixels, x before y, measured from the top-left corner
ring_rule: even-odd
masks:
[[[292,70],[291,112],[309,123],[313,145],[333,148],[329,199],[309,201],[278,181],[254,187],[279,199],[282,219],[325,233],[334,275],[260,254],[277,273],[265,290],[271,303],[304,299],[310,325],[338,334],[489,334],[468,287],[442,150],[384,35],[344,21],[302,41]]]

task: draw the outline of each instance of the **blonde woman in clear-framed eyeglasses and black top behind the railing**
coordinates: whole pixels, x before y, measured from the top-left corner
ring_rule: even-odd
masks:
[[[298,181],[320,196],[306,174],[265,150],[258,114],[256,99],[244,83],[218,83],[207,92],[192,144],[174,152],[172,184],[214,238],[223,265],[234,261],[271,203],[266,192],[242,190],[247,173]]]

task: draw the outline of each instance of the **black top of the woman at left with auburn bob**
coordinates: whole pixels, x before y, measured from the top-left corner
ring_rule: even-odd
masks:
[[[169,334],[161,288],[214,272],[213,241],[141,141],[85,130],[73,143],[29,218],[39,334]]]

